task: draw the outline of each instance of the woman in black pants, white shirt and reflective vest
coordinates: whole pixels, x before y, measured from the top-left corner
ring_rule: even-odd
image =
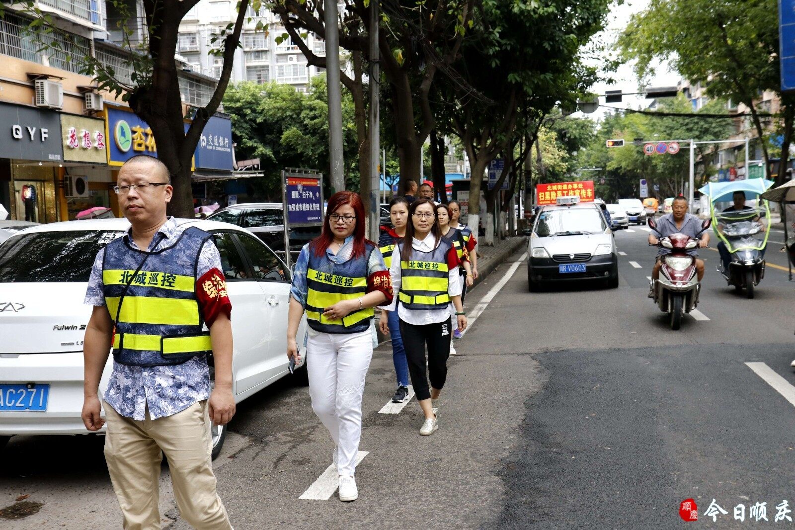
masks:
[[[409,375],[425,414],[420,429],[423,436],[432,435],[438,428],[439,396],[447,379],[452,337],[451,303],[456,309],[458,329],[467,327],[461,305],[459,264],[456,248],[441,237],[432,201],[414,201],[409,208],[405,238],[392,256],[390,277],[396,294],[387,310],[397,310],[400,318]]]

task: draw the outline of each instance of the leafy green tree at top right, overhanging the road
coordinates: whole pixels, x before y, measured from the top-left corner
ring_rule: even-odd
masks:
[[[784,178],[793,134],[795,99],[782,95],[778,57],[778,12],[770,0],[661,0],[633,15],[619,38],[623,60],[634,60],[641,79],[653,73],[655,60],[670,61],[708,95],[743,103],[750,112],[765,166],[770,152],[758,96],[773,91],[781,98],[782,136],[778,180]],[[725,110],[724,110],[725,111]]]

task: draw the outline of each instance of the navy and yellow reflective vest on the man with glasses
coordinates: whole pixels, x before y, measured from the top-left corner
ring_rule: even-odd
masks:
[[[126,237],[107,244],[103,292],[115,325],[116,362],[164,366],[212,353],[196,299],[199,254],[211,237],[192,227],[153,252],[130,247]]]

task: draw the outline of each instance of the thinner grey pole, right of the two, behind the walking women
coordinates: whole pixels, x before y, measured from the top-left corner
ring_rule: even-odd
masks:
[[[378,0],[370,0],[370,240],[378,241],[378,225],[381,224],[381,208],[378,205],[378,190],[381,189],[381,172],[378,171],[378,151],[381,134],[379,126],[380,101],[378,100]],[[386,175],[386,167],[384,168]]]

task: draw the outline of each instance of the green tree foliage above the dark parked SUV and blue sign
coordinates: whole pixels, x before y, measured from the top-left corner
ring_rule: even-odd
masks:
[[[230,85],[223,98],[231,115],[238,158],[259,158],[264,177],[250,179],[256,199],[280,200],[279,172],[301,167],[326,173],[328,103],[325,76],[312,79],[307,93],[287,84]],[[359,189],[356,127],[351,95],[343,92],[343,149],[347,189]],[[328,178],[325,179],[328,185]]]

